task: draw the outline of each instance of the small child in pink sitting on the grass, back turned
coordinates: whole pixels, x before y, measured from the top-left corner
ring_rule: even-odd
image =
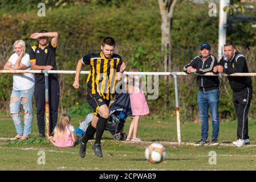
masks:
[[[70,116],[62,114],[59,123],[54,129],[54,137],[49,137],[50,142],[56,147],[74,147],[75,128],[70,123]]]

